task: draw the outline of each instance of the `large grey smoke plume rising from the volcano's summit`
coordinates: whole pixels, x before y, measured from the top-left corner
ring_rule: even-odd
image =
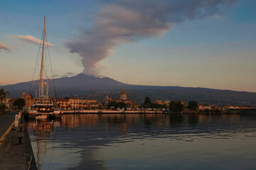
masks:
[[[183,21],[217,16],[237,0],[117,0],[104,4],[94,26],[81,30],[78,38],[65,43],[82,57],[85,74],[97,74],[97,62],[112,54],[114,47],[162,36]]]

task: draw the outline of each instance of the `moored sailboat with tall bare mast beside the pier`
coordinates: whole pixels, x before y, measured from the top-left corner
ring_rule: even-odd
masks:
[[[31,106],[31,110],[28,111],[28,118],[55,118],[54,104],[52,98],[49,96],[49,81],[48,77],[46,81],[43,79],[44,75],[44,55],[45,55],[45,37],[46,37],[46,16],[44,17],[43,25],[43,42],[42,42],[42,57],[41,57],[41,69],[40,69],[40,82],[38,96],[36,94],[35,103]]]

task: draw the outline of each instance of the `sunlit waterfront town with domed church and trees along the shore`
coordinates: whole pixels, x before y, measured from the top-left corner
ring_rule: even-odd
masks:
[[[14,111],[19,109],[31,108],[35,103],[35,98],[31,94],[23,94],[20,98],[8,98],[9,92],[0,91],[1,112]],[[103,98],[103,102],[95,99],[81,99],[75,97],[53,98],[55,107],[59,108],[63,113],[81,112],[81,113],[100,113],[100,112],[127,112],[127,113],[239,113],[254,111],[255,106],[215,106],[207,103],[197,103],[196,101],[151,101],[146,97],[144,103],[135,103],[129,100],[129,96],[123,88],[120,91],[119,98],[111,98],[111,94],[107,94]]]

